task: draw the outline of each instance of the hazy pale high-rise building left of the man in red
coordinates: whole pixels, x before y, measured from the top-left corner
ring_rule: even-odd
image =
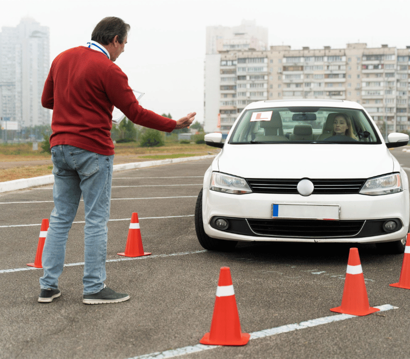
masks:
[[[30,17],[0,32],[0,116],[19,127],[50,124],[41,105],[50,69],[50,31]]]

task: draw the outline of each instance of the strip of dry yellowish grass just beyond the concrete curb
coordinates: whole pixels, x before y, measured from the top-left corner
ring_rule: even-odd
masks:
[[[40,146],[39,146],[40,147]],[[116,144],[114,164],[136,162],[140,158],[170,158],[217,153],[216,148],[201,144],[166,143],[162,147],[138,147],[136,143]],[[129,156],[130,158],[127,158]],[[38,165],[38,161],[49,164]],[[49,153],[41,153],[41,149],[32,150],[32,144],[0,145],[0,163],[13,162],[12,168],[0,167],[0,182],[12,181],[19,178],[31,178],[51,174],[53,166]],[[31,163],[31,164],[30,164]]]

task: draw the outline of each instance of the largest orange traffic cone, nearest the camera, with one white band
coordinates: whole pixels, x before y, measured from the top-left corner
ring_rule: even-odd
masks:
[[[228,267],[222,267],[216,290],[211,330],[202,337],[199,343],[208,345],[245,345],[249,342],[250,336],[250,334],[241,332],[231,272]]]

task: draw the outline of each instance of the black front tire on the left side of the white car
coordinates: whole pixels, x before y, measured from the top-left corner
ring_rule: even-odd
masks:
[[[199,244],[210,251],[229,252],[232,251],[238,241],[226,241],[212,238],[203,230],[202,222],[202,189],[198,194],[195,204],[195,231]]]

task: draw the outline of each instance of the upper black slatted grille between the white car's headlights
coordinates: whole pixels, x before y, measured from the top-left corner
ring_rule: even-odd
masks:
[[[300,179],[246,178],[254,193],[298,194]],[[314,185],[312,194],[359,193],[366,179],[310,179]]]

